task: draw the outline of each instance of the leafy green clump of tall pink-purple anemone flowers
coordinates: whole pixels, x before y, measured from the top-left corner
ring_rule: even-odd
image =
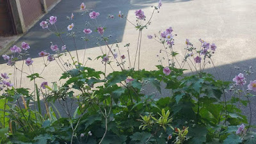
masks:
[[[67,29],[60,32],[55,25],[56,16],[40,22],[42,29],[60,38],[61,44],[51,42],[48,49],[38,51],[44,63],[42,71],[34,68],[35,62],[28,52],[34,47],[26,42],[13,45],[11,56],[2,56],[14,71],[13,74],[1,72],[0,76],[1,143],[255,143],[250,97],[255,96],[256,80],[246,84],[246,76],[253,74],[252,68],[244,73],[246,76],[243,73],[234,76],[234,83],[216,80],[205,72],[205,66],[212,64],[214,67],[212,56],[217,46],[201,38],[200,47],[194,47],[186,39],[184,58],[178,61],[180,55],[174,47],[177,35],[172,27],[153,35],[141,34],[150,27],[154,13],[162,6],[160,0],[157,6],[152,6],[149,16],[143,10],[136,10],[136,22],[128,20],[125,13],[116,12],[120,20],[126,19],[138,31],[138,42],[124,45],[127,53],[120,51],[117,40],[109,44],[111,35],[106,36],[107,21],[115,19],[115,15],[106,15],[106,23],[100,25],[97,19],[104,14],[93,10],[89,13],[84,3],[80,10],[90,20],[86,28],[76,28],[79,29],[76,31],[73,29],[75,22],[70,22]],[[74,14],[67,19],[75,20]],[[77,33],[83,33],[83,37]],[[63,36],[71,38],[75,56]],[[77,52],[77,38],[85,44],[83,58],[79,58]],[[87,62],[92,60],[85,57],[91,38],[101,42],[97,46],[102,53],[95,60],[99,60],[104,71],[87,67]],[[156,70],[141,69],[144,38],[163,46],[156,57],[159,59]],[[101,44],[106,47],[104,51]],[[134,45],[136,54],[131,56],[129,47]],[[69,59],[65,61],[64,56]],[[22,61],[21,67],[16,61]],[[42,77],[47,66],[53,64],[62,70],[62,84]],[[113,71],[107,73],[107,67]],[[184,75],[184,67],[191,70],[190,76]],[[21,79],[25,76],[33,81],[33,90],[22,87]],[[145,90],[148,87],[154,92],[148,93]],[[170,93],[159,98],[163,88]],[[231,99],[227,99],[227,95],[232,95]],[[237,104],[250,108],[248,120],[241,115]]]

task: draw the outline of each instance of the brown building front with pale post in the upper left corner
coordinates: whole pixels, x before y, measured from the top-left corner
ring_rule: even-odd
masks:
[[[0,35],[25,33],[60,0],[0,0]]]

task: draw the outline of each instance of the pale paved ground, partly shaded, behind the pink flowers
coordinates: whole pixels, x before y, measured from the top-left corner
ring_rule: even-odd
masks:
[[[112,35],[110,43],[115,42],[116,39],[120,41],[121,53],[127,55],[124,45],[130,43],[131,56],[135,56],[136,42],[138,38],[138,31],[125,22],[125,19],[119,19],[118,12],[122,11],[131,21],[135,20],[135,10],[142,9],[145,15],[150,17],[152,12],[152,5],[157,5],[154,0],[117,0],[115,3],[111,0],[104,1],[81,1],[81,0],[62,0],[55,8],[51,10],[42,20],[49,19],[51,15],[58,17],[56,26],[61,31],[67,33],[67,26],[74,22],[74,31],[82,31],[86,20],[89,18],[82,16],[79,10],[80,4],[84,2],[86,8],[93,9],[99,12],[100,16],[97,19],[98,24],[104,25],[108,15],[115,15],[114,20],[108,20],[106,24],[106,31],[104,35]],[[207,42],[215,43],[217,45],[216,54],[213,58],[214,64],[220,74],[221,79],[230,81],[231,78],[248,70],[250,66],[255,68],[255,41],[256,41],[256,1],[254,0],[163,0],[163,7],[160,13],[156,13],[152,18],[152,24],[143,31],[142,49],[141,49],[141,66],[147,70],[155,69],[155,65],[159,65],[156,55],[159,54],[161,45],[156,44],[154,40],[148,40],[147,35],[158,33],[159,30],[164,30],[173,27],[174,33],[177,34],[175,38],[175,51],[180,54],[184,53],[186,38],[197,47],[200,47],[198,38],[202,38]],[[74,13],[74,21],[67,20],[66,17]],[[42,21],[40,20],[40,21]],[[93,32],[93,35],[97,35]],[[82,35],[82,34],[81,34]],[[99,36],[99,35],[97,35]],[[74,51],[74,44],[71,38],[63,34],[64,41],[67,47],[72,49],[72,55],[76,56]],[[28,42],[31,45],[31,58],[34,60],[33,67],[35,72],[40,73],[43,68],[42,58],[38,58],[38,52],[51,52],[50,42],[61,47],[61,41],[58,37],[47,29],[42,29],[38,24],[31,28],[28,33],[17,42],[20,46],[21,42]],[[86,58],[90,57],[93,60],[101,54],[99,47],[95,45],[97,40],[90,40],[88,49],[86,50]],[[79,58],[83,58],[84,42],[77,39],[77,47],[79,49]],[[105,49],[105,48],[104,48]],[[68,60],[68,56],[63,58]],[[182,61],[182,56],[179,58]],[[7,67],[1,60],[1,72],[13,72],[13,67]],[[18,62],[21,65],[21,61]],[[167,63],[165,63],[167,65]],[[89,61],[88,67],[96,68],[96,70],[103,70],[102,63],[97,60]],[[241,70],[234,70],[234,66],[241,67]],[[21,67],[21,66],[20,66]],[[114,67],[118,70],[118,67]],[[28,67],[25,68],[29,72]],[[111,68],[108,68],[111,71]],[[214,68],[209,65],[207,71],[213,74]],[[188,71],[189,72],[189,71]],[[44,71],[42,75],[47,81],[58,81],[61,76],[61,69],[57,67],[56,62],[52,62]],[[248,81],[254,80],[255,76],[246,77]],[[41,81],[38,81],[40,84]],[[61,82],[60,82],[61,83]],[[28,79],[22,79],[22,86],[32,88],[32,83]],[[150,88],[148,88],[149,90]],[[163,96],[167,96],[168,91],[164,91]],[[253,115],[256,115],[256,101],[252,98]],[[244,113],[248,115],[248,108],[242,108]],[[253,117],[253,124],[256,122],[256,117]]]

